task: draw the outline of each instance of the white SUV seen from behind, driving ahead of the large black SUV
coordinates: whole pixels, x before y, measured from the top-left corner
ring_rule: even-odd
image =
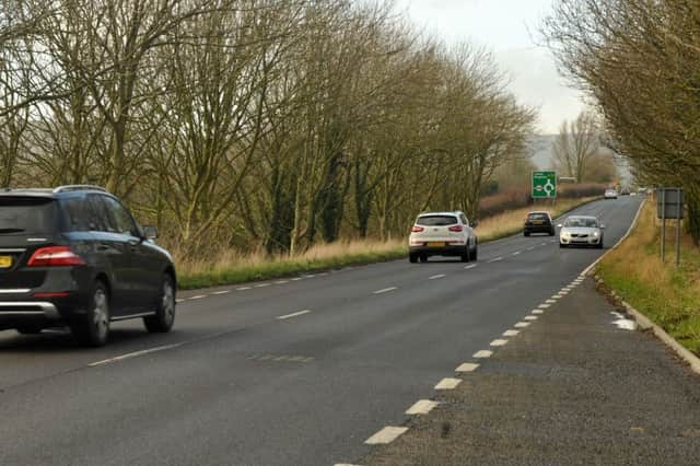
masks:
[[[421,213],[408,237],[408,259],[424,263],[430,256],[459,256],[463,263],[476,260],[475,226],[459,211]]]

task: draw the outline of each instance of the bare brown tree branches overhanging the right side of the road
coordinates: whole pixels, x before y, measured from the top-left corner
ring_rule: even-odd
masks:
[[[640,183],[685,189],[700,243],[700,3],[561,1],[542,30]]]

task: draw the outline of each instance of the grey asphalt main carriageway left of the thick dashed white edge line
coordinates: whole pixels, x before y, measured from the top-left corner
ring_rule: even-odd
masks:
[[[598,214],[609,246],[640,201],[576,213]],[[188,293],[171,334],[116,324],[96,350],[0,333],[0,464],[351,463],[600,253],[514,236],[481,245],[476,265],[400,260]]]

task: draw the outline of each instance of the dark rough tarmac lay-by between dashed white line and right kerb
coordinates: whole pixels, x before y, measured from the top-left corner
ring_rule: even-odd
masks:
[[[700,377],[619,312],[586,279],[355,463],[697,465]]]

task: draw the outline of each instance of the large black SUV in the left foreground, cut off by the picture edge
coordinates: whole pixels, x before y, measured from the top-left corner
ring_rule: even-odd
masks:
[[[113,195],[93,186],[0,190],[0,330],[69,326],[84,346],[114,321],[175,319],[175,266]]]

